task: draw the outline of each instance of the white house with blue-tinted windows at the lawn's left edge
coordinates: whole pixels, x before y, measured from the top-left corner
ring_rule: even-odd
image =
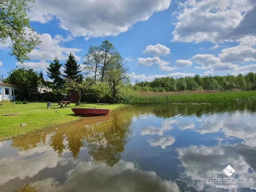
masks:
[[[0,83],[0,101],[2,100],[15,100],[18,95],[18,86]]]

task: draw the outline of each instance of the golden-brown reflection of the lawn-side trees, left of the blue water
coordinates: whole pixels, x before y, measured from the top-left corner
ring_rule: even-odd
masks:
[[[113,166],[120,161],[121,153],[125,150],[125,144],[131,134],[129,127],[132,117],[133,113],[130,111],[116,110],[110,117],[101,118],[105,119],[103,122],[92,125],[73,123],[54,130],[14,138],[11,147],[27,151],[37,147],[40,142],[44,145],[45,142],[49,142],[58,157],[62,157],[66,149],[75,159],[83,147],[88,147],[88,153],[95,164],[106,163],[108,166]]]

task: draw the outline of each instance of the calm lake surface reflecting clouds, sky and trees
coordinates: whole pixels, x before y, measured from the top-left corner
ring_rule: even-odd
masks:
[[[255,111],[255,101],[128,106],[3,141],[0,191],[256,191]],[[253,183],[206,183],[228,164]]]

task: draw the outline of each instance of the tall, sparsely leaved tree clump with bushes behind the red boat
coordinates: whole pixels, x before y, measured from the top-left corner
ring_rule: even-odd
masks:
[[[99,46],[90,46],[84,56],[83,64],[85,71],[90,77],[93,77],[95,82],[91,88],[86,90],[87,100],[93,102],[107,100],[118,103],[129,97],[129,93],[124,89],[130,83],[127,76],[128,68],[111,42],[104,40]],[[138,88],[140,89],[140,87]]]

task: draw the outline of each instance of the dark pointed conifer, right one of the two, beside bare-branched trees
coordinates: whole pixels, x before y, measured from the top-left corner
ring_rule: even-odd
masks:
[[[65,77],[72,78],[72,79],[78,79],[79,74],[81,72],[81,67],[77,64],[77,61],[75,59],[74,54],[70,52],[68,55],[67,62],[64,65],[64,73],[66,74]]]

